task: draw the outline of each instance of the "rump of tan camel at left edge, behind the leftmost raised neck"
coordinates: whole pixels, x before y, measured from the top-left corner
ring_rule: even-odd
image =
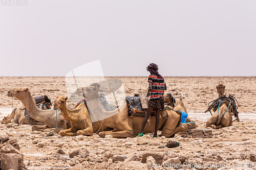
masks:
[[[15,107],[10,114],[4,116],[1,124],[15,123],[18,125],[23,125],[26,123],[25,117],[25,106],[20,104],[18,107]]]

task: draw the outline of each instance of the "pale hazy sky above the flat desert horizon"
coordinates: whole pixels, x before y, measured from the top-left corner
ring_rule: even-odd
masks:
[[[0,2],[0,76],[256,76],[255,0],[26,2]]]

